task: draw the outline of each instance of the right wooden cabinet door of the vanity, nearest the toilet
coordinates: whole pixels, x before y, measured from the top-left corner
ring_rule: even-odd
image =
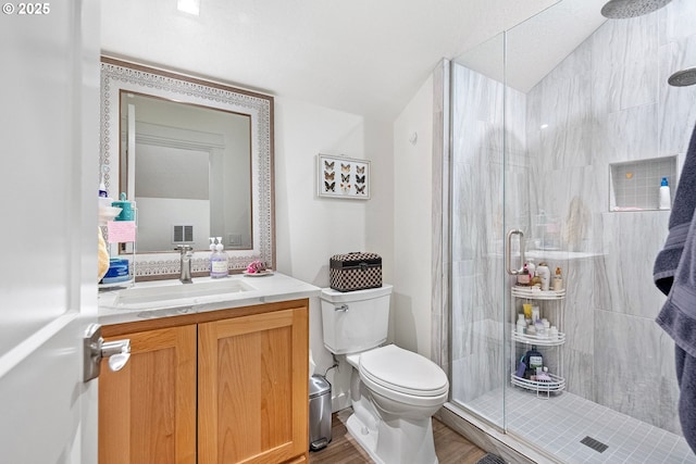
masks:
[[[306,306],[199,325],[198,463],[307,456]]]

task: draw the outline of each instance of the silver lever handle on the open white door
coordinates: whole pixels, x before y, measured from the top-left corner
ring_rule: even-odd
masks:
[[[130,359],[130,340],[104,341],[101,337],[101,326],[90,324],[83,339],[83,381],[99,377],[101,360],[109,359],[109,368],[121,371]]]

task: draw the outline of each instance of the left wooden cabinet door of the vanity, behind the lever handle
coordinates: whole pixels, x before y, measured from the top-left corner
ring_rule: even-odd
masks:
[[[196,325],[127,334],[130,360],[99,377],[100,464],[196,463]]]

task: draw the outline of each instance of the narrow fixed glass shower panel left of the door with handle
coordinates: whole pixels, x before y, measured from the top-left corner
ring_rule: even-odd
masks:
[[[486,74],[468,66],[482,57]],[[451,63],[450,72],[451,402],[502,430],[509,375],[504,36]]]

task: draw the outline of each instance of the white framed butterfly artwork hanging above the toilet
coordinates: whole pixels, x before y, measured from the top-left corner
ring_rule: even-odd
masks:
[[[346,156],[316,156],[320,197],[370,199],[370,161]]]

